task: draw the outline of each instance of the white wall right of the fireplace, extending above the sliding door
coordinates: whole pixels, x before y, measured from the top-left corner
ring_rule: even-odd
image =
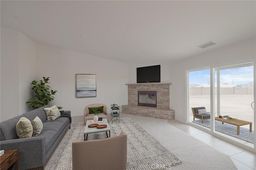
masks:
[[[186,71],[214,67],[246,59],[256,59],[256,40],[232,44],[196,57],[173,62],[170,65],[170,109],[175,119],[186,122]]]

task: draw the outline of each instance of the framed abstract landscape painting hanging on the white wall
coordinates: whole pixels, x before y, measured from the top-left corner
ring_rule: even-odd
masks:
[[[76,97],[96,97],[96,74],[76,74]]]

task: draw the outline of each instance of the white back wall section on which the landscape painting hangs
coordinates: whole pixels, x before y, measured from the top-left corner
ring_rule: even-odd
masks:
[[[50,77],[50,89],[58,91],[49,105],[62,106],[72,116],[84,115],[93,103],[127,105],[128,64],[49,45],[36,44],[38,80]],[[96,74],[97,96],[76,98],[76,74]],[[83,121],[83,120],[81,120]]]

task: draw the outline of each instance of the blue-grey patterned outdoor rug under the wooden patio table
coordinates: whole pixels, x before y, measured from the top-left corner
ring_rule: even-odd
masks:
[[[192,122],[210,128],[210,120],[205,120],[204,123],[202,123],[201,120]],[[222,125],[222,122],[215,121],[215,130],[254,144],[254,131],[252,130],[252,132],[250,132],[248,128],[240,127],[240,134],[238,135],[236,134],[237,127],[235,125],[230,125],[228,123]]]

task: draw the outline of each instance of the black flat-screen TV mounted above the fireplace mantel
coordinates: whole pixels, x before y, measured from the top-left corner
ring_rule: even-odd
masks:
[[[137,83],[160,82],[160,65],[137,68]]]

